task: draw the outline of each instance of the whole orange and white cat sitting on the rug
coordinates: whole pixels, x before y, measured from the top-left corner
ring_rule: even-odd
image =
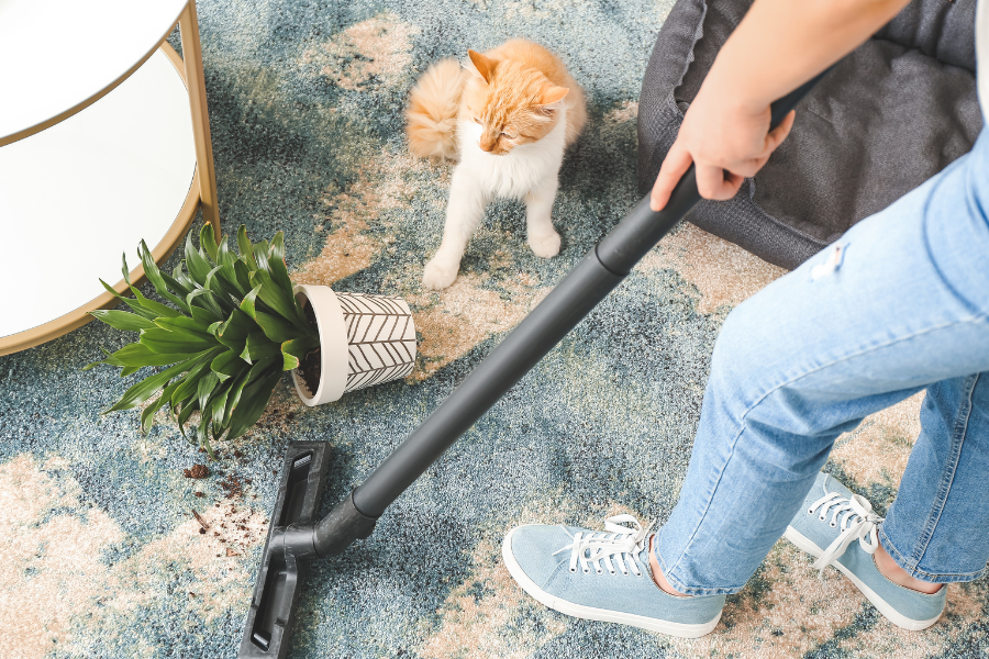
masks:
[[[584,90],[559,58],[524,40],[432,65],[412,89],[409,146],[420,157],[459,159],[453,172],[443,242],[422,281],[440,290],[457,277],[467,241],[496,197],[524,199],[529,245],[559,254],[549,212],[564,150],[587,121]]]

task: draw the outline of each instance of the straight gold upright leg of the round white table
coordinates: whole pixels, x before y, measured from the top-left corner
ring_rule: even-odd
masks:
[[[199,169],[202,219],[213,225],[213,235],[220,239],[220,210],[216,208],[216,172],[213,169],[213,143],[210,138],[210,113],[207,108],[205,80],[202,74],[202,48],[199,42],[199,18],[196,0],[189,0],[179,16],[179,34],[182,40],[182,60],[186,66],[186,85],[192,110],[192,134],[196,138],[196,163]]]

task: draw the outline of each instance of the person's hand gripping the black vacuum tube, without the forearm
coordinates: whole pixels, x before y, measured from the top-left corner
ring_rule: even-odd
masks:
[[[649,208],[662,211],[680,177],[693,163],[697,189],[704,199],[731,199],[742,187],[745,177],[766,164],[793,125],[794,112],[769,131],[769,105],[742,100],[729,85],[716,79],[701,86],[687,110],[680,132],[670,147],[653,194]]]

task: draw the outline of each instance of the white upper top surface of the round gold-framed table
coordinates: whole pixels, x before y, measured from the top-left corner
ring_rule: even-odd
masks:
[[[67,112],[154,51],[188,0],[0,0],[0,139]]]

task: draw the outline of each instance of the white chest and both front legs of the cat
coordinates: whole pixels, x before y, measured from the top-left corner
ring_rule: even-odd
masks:
[[[440,290],[453,283],[467,241],[484,219],[485,206],[496,197],[525,201],[529,246],[536,256],[551,258],[559,254],[559,234],[549,213],[566,149],[567,115],[566,108],[557,112],[556,125],[540,141],[521,144],[500,156],[480,148],[481,126],[466,120],[458,122],[460,161],[451,181],[443,243],[423,271],[426,288]]]

